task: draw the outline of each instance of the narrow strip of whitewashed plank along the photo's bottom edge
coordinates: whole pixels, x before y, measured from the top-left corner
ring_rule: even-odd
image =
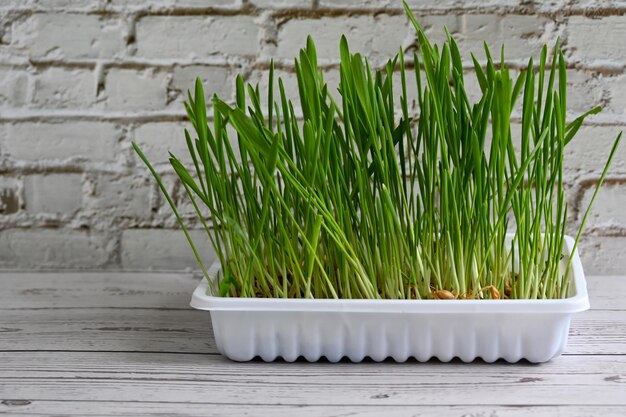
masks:
[[[623,417],[626,406],[301,406],[245,404],[188,404],[102,401],[28,401],[2,404],[0,415],[80,417]]]

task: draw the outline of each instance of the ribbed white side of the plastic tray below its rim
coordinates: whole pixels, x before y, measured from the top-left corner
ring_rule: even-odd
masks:
[[[545,362],[567,343],[569,314],[211,312],[218,350],[236,361],[344,357]]]

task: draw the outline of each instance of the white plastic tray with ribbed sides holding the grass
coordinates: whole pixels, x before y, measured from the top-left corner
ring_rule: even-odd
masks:
[[[565,244],[571,253],[574,240]],[[565,349],[572,314],[589,308],[578,251],[573,257],[572,296],[558,300],[229,298],[210,295],[202,280],[191,306],[211,312],[217,349],[235,361],[545,362]],[[216,263],[209,275],[219,270]]]

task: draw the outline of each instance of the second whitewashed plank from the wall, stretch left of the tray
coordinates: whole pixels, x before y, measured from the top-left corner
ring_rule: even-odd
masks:
[[[197,310],[0,310],[2,350],[217,352],[210,314]]]

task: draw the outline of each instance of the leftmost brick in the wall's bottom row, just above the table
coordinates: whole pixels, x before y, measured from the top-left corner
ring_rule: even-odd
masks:
[[[19,268],[98,268],[112,250],[105,236],[68,229],[5,230],[0,242],[0,265]]]

